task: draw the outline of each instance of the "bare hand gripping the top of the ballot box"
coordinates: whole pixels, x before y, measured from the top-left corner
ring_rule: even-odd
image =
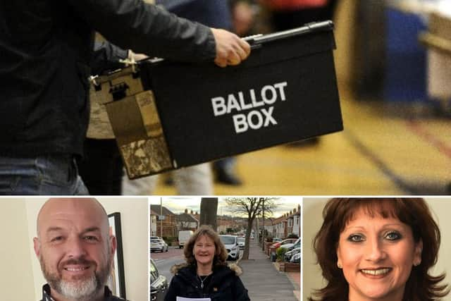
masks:
[[[249,44],[227,30],[211,28],[216,41],[216,59],[220,67],[235,66],[245,60],[251,53]]]

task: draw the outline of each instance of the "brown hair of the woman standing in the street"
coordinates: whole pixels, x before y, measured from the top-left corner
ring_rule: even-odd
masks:
[[[194,244],[196,243],[197,238],[201,237],[202,235],[206,235],[214,241],[216,254],[214,255],[213,265],[226,265],[226,260],[228,257],[226,247],[224,247],[224,244],[221,241],[221,238],[219,238],[218,233],[216,233],[216,231],[214,231],[211,226],[207,225],[200,226],[200,228],[198,228],[197,231],[194,232],[190,240],[188,240],[187,244],[185,245],[183,253],[185,254],[187,264],[196,264],[196,259],[194,258],[193,252]]]

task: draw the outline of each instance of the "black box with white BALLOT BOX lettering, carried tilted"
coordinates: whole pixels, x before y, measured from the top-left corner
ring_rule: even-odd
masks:
[[[331,21],[246,39],[239,66],[156,59],[93,80],[129,178],[342,130]]]

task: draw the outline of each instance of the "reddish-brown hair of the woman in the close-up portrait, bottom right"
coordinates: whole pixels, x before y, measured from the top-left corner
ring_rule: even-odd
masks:
[[[357,211],[363,209],[369,216],[394,217],[412,228],[415,242],[423,241],[421,264],[413,266],[404,289],[403,300],[434,301],[449,293],[447,285],[439,284],[445,273],[431,276],[428,270],[437,262],[440,247],[440,230],[431,211],[421,198],[334,198],[323,209],[323,226],[314,238],[314,251],[326,287],[314,293],[321,301],[347,301],[349,285],[342,269],[337,266],[337,248],[340,233]]]

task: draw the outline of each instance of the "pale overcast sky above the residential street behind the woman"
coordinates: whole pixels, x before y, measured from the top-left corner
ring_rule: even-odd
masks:
[[[163,203],[163,207],[171,210],[175,214],[180,214],[185,209],[192,211],[200,211],[201,197],[150,197],[150,204],[160,204],[160,200]],[[231,215],[230,210],[227,207],[224,197],[218,197],[218,215]],[[301,203],[300,197],[277,197],[276,209],[273,209],[273,216],[277,218],[282,214],[289,212],[290,210],[297,208],[297,205]],[[157,214],[159,212],[156,212]]]

